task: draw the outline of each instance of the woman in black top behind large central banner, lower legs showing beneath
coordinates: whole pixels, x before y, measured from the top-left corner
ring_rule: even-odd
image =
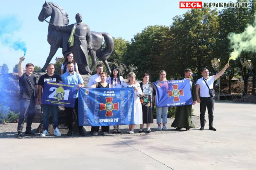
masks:
[[[105,72],[102,72],[100,74],[100,79],[101,81],[96,83],[96,84],[93,84],[92,86],[90,87],[96,87],[96,88],[110,88],[110,84],[108,84],[106,82],[106,79],[107,79],[107,76],[108,74],[105,73]],[[91,131],[93,132],[93,135],[94,136],[97,136],[98,135],[98,132],[99,132],[99,126],[95,126],[95,127],[92,127]],[[108,135],[108,132],[109,132],[109,126],[102,126],[102,132],[103,132],[103,135]]]

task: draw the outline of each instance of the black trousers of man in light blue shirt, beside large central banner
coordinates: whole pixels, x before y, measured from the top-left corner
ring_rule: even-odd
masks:
[[[76,98],[75,108],[65,107],[65,112],[67,114],[67,128],[72,129],[74,121],[77,121],[78,125],[78,98]],[[82,126],[78,126],[79,129]]]

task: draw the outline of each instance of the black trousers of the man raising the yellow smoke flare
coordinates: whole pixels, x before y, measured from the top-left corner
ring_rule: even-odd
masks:
[[[209,127],[213,126],[213,109],[214,109],[214,96],[209,98],[200,97],[200,124],[204,127],[204,115],[206,108],[208,110]]]

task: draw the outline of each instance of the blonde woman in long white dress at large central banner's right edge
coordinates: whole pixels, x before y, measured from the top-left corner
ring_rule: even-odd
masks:
[[[129,73],[128,82],[124,83],[123,87],[134,88],[134,124],[130,124],[129,130],[127,131],[127,133],[134,134],[135,124],[143,124],[142,107],[140,103],[140,96],[142,95],[142,90],[140,88],[140,84],[136,82],[136,75],[134,72]]]

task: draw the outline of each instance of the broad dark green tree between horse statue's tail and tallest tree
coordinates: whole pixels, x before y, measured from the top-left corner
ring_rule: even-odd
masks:
[[[158,78],[158,73],[164,68],[166,58],[163,57],[164,43],[168,42],[168,26],[148,26],[141,33],[137,33],[127,44],[127,53],[123,59],[126,65],[134,64],[138,67],[137,78],[147,72],[151,81]]]

